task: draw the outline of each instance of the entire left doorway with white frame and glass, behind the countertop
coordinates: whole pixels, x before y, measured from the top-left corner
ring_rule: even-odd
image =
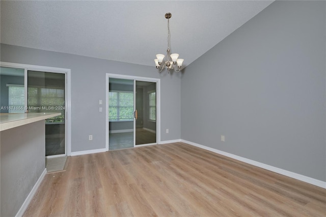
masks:
[[[60,112],[45,120],[44,157],[70,155],[70,69],[1,62],[0,74],[1,104],[17,108],[1,112]]]

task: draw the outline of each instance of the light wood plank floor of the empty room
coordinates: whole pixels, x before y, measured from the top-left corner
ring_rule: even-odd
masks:
[[[326,189],[184,143],[68,157],[24,216],[325,216]]]

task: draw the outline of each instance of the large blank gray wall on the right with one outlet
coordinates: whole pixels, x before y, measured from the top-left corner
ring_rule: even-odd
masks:
[[[325,4],[274,2],[187,66],[181,138],[326,181]]]

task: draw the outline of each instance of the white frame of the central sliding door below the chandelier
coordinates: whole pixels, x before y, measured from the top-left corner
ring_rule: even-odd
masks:
[[[160,138],[161,138],[161,134],[160,134],[160,79],[158,78],[150,78],[150,77],[139,77],[139,76],[131,76],[131,75],[122,75],[122,74],[111,74],[111,73],[106,73],[105,76],[105,83],[106,83],[106,93],[105,93],[105,101],[106,101],[106,105],[105,105],[105,149],[106,151],[109,150],[109,146],[108,146],[108,131],[109,131],[109,121],[108,121],[108,79],[109,78],[120,78],[120,79],[129,79],[129,80],[133,80],[133,84],[135,85],[135,81],[141,81],[141,82],[152,82],[152,83],[156,83],[156,144],[160,144]],[[135,89],[135,87],[133,87],[133,89]],[[134,123],[135,121],[133,121],[133,128],[135,130],[134,127]],[[135,143],[135,141],[133,141],[133,143]],[[146,145],[146,144],[145,144]],[[148,145],[152,145],[152,144],[148,144]],[[144,145],[138,145],[139,146],[144,146]]]

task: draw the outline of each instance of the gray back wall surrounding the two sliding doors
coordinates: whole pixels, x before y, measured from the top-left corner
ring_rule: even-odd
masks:
[[[110,52],[110,50],[108,50]],[[161,79],[161,141],[180,139],[180,74],[158,73],[155,66],[70,55],[1,44],[1,61],[71,69],[71,151],[105,148],[105,73]],[[152,61],[152,60],[149,60]],[[170,132],[165,133],[169,128]],[[88,140],[88,135],[93,140]]]

